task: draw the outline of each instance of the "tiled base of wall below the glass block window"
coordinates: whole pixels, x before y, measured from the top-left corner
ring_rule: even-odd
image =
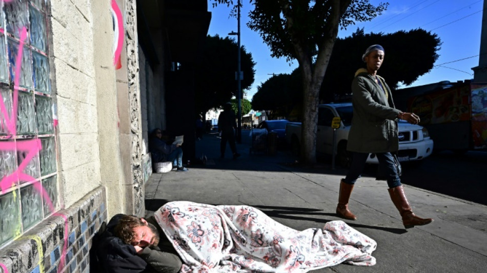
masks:
[[[105,187],[58,211],[0,250],[1,273],[88,273],[93,235],[107,221]]]

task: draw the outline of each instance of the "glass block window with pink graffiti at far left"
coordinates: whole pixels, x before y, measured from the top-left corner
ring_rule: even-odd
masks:
[[[0,1],[0,248],[58,209],[48,4]]]

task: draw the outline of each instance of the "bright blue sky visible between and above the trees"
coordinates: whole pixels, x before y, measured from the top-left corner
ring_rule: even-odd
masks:
[[[236,0],[234,1],[236,2]],[[363,28],[364,33],[382,32],[384,34],[422,28],[437,34],[442,45],[437,52],[439,58],[436,60],[434,68],[429,73],[420,76],[409,87],[443,80],[455,82],[473,79],[472,68],[479,65],[483,0],[371,0],[370,2],[374,5],[389,2],[389,6],[382,15],[370,22],[358,22],[346,30],[339,30],[338,37],[351,36],[357,28]],[[211,3],[213,1],[208,3],[208,9],[212,13],[208,34],[227,37],[228,33],[236,32],[237,18],[229,16],[230,8],[226,5],[218,5],[213,8]],[[246,97],[251,100],[257,92],[257,87],[272,77],[272,74],[290,74],[298,67],[298,64],[296,60],[287,62],[285,58],[271,57],[269,47],[263,43],[259,34],[247,27],[248,13],[253,6],[249,4],[249,0],[242,0],[242,4],[240,42],[246,51],[252,54],[256,62],[255,81],[250,90],[246,91]],[[234,37],[236,41],[236,36],[230,37]],[[421,46],[420,43],[418,46]],[[385,49],[386,54],[387,50]],[[387,55],[384,61],[387,61]]]

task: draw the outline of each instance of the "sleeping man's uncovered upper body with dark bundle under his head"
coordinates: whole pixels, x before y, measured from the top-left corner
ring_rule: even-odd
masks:
[[[153,216],[117,214],[97,244],[96,258],[106,273],[176,273],[182,265]]]

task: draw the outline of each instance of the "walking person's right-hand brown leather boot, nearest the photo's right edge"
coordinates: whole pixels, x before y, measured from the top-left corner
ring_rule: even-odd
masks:
[[[423,219],[414,215],[413,209],[411,208],[411,205],[404,194],[404,188],[402,185],[389,188],[388,191],[392,202],[401,214],[402,224],[405,228],[411,228],[415,225],[426,225],[433,222],[433,219],[431,218]]]

